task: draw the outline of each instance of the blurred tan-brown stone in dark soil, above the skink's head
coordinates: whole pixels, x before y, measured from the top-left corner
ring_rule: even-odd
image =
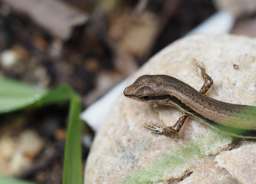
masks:
[[[145,54],[158,31],[158,21],[154,14],[143,11],[140,14],[131,12],[115,19],[110,27],[110,35],[118,45],[131,55],[141,57]]]

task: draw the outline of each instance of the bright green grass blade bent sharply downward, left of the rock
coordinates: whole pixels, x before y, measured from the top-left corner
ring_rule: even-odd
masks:
[[[81,101],[68,87],[60,85],[53,90],[35,87],[23,82],[0,77],[0,113],[8,113],[24,108],[42,107],[63,101],[70,101],[68,128],[65,146],[63,183],[82,182],[81,171]],[[0,183],[28,183],[7,176],[0,176]]]

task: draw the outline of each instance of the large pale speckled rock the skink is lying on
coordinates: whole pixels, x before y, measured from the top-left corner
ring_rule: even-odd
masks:
[[[183,38],[151,58],[131,83],[142,74],[168,74],[199,90],[203,80],[192,67],[195,58],[214,81],[209,97],[256,106],[255,51],[253,38]],[[85,183],[255,182],[256,140],[234,141],[193,118],[175,136],[143,127],[145,122],[172,125],[180,116],[175,107],[151,106],[121,94],[95,138]]]

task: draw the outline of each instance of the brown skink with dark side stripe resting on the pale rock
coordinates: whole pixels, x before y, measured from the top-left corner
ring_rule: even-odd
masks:
[[[256,139],[256,107],[228,104],[204,95],[213,81],[198,62],[194,61],[194,67],[204,79],[199,91],[168,75],[143,75],[125,88],[125,97],[175,106],[183,112],[174,126],[145,123],[145,127],[154,133],[172,135],[181,130],[188,116],[192,116],[232,136]]]

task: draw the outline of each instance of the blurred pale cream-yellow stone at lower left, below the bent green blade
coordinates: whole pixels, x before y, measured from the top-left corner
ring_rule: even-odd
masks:
[[[44,142],[34,130],[25,130],[17,138],[8,133],[0,137],[0,172],[18,175],[32,165]]]

